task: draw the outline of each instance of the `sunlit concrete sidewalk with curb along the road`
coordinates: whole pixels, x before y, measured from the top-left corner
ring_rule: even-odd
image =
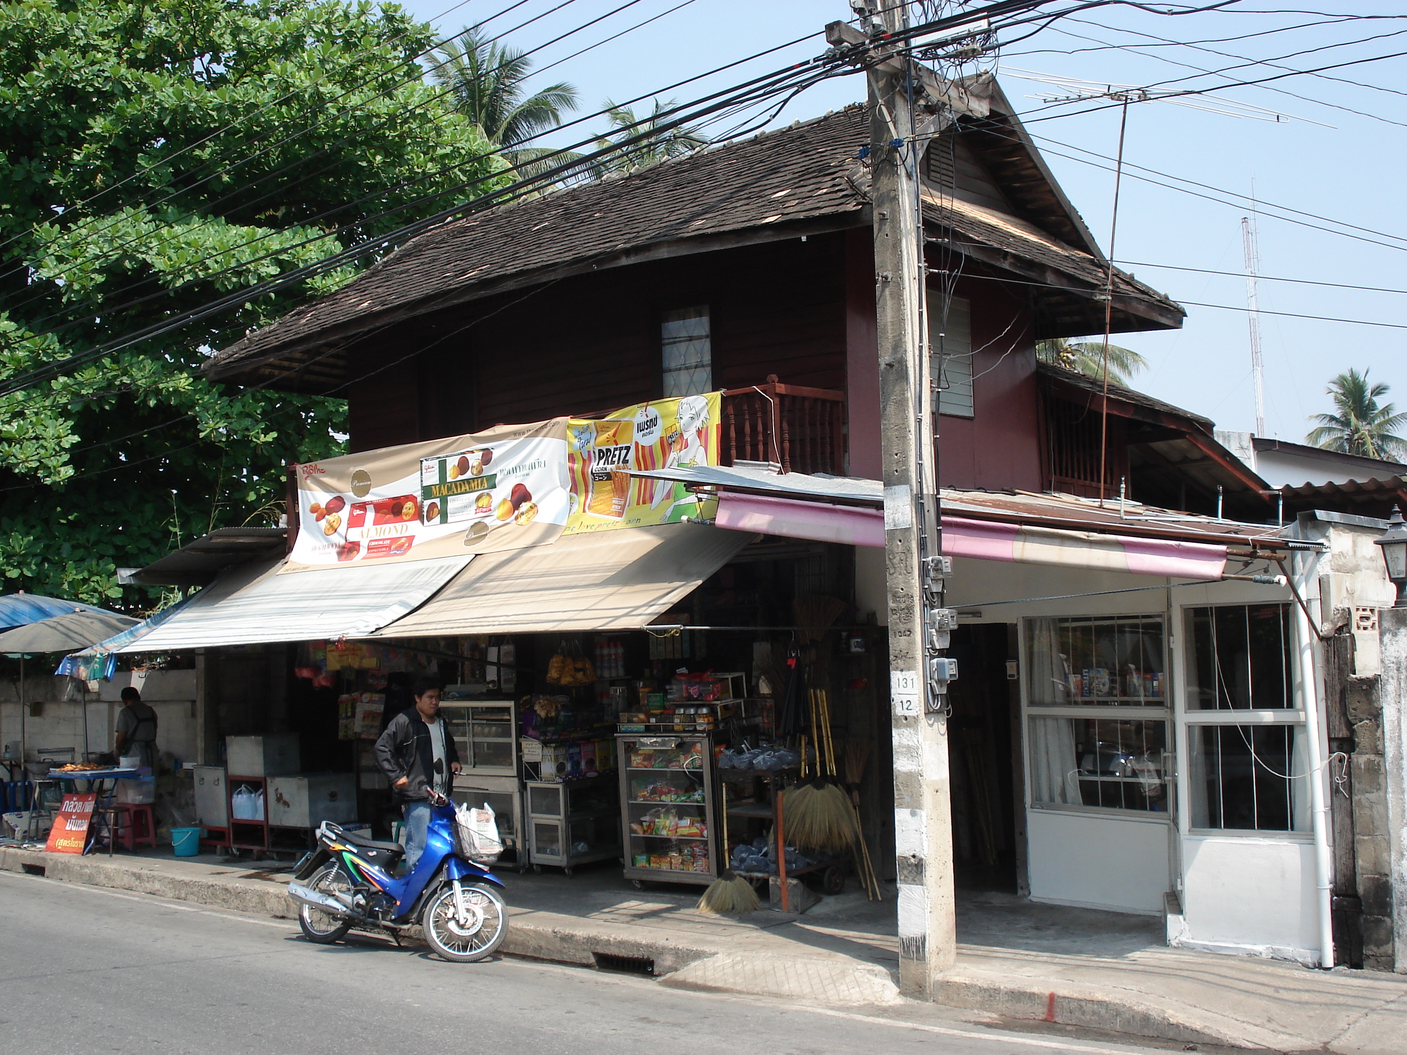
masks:
[[[265,916],[293,916],[287,872],[214,857],[73,857],[0,848],[0,868]],[[287,865],[281,865],[287,868]],[[618,868],[571,879],[501,874],[509,955],[590,966],[653,962],[671,986],[830,1007],[905,1003],[893,976],[893,900],[827,897],[803,916],[696,912],[696,890],[636,892]],[[1158,921],[960,895],[958,964],[940,1003],[1010,1018],[1169,1041],[1338,1055],[1407,1051],[1407,979],[1225,957],[1161,944]]]

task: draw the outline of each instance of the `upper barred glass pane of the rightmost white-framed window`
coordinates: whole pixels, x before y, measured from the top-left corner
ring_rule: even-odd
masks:
[[[1186,627],[1189,710],[1294,706],[1289,605],[1189,608]]]

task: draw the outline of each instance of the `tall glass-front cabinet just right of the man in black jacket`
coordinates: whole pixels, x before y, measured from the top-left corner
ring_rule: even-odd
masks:
[[[528,867],[528,845],[518,779],[516,705],[511,699],[446,699],[440,715],[463,767],[454,778],[454,802],[492,807],[504,848],[514,851],[512,861],[522,871]]]

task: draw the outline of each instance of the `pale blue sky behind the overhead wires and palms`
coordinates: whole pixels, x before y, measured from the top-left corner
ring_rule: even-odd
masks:
[[[507,10],[515,1],[469,0],[447,13],[453,0],[412,0],[405,6],[435,21],[446,34],[498,14],[485,31],[508,31],[509,44],[529,49],[628,3],[568,0],[561,6],[563,0],[526,0]],[[566,60],[545,69],[536,83],[571,82],[581,91],[580,113],[587,114],[606,98],[623,101],[653,96],[674,82],[810,35],[761,59],[666,93],[682,101],[820,53],[825,51],[822,27],[850,15],[848,4],[841,0],[691,0],[680,10],[670,10],[680,3],[636,0],[626,10],[543,48],[533,56],[537,68]],[[552,10],[559,6],[560,10]],[[1306,11],[1313,11],[1310,14],[1266,13],[1294,6],[1244,1],[1230,11],[1180,18],[1103,7],[1061,20],[1030,39],[1002,48],[998,73],[1003,89],[1026,114],[1031,134],[1041,136],[1037,143],[1047,162],[1106,249],[1113,173],[1104,159],[1112,159],[1117,151],[1119,110],[1097,101],[1051,106],[1041,97],[1048,97],[1052,89],[1020,79],[1016,70],[1106,86],[1175,82],[1165,87],[1209,89],[1231,80],[1285,73],[1279,66],[1306,70],[1407,52],[1407,15],[1400,4],[1316,3],[1304,6]],[[537,15],[545,17],[515,28]],[[661,17],[632,28],[654,15]],[[1368,20],[1365,15],[1377,17]],[[567,58],[622,31],[629,32],[584,55]],[[1005,39],[1021,32],[1026,30],[1010,31]],[[1247,34],[1256,35],[1224,39]],[[1370,37],[1379,39],[1365,39]],[[1164,41],[1176,41],[1179,46]],[[1189,46],[1189,42],[1196,44]],[[1330,46],[1341,44],[1348,46]],[[1292,55],[1307,49],[1320,51]],[[1189,66],[1231,69],[1223,76],[1207,76]],[[1242,311],[1245,281],[1240,277],[1241,218],[1249,207],[1244,198],[1230,200],[1231,196],[1249,196],[1252,187],[1256,198],[1268,203],[1258,218],[1263,276],[1407,291],[1407,210],[1400,197],[1407,170],[1404,90],[1407,59],[1392,58],[1324,70],[1321,76],[1289,76],[1261,87],[1225,87],[1216,91],[1214,100],[1199,100],[1207,106],[1225,100],[1261,107],[1271,111],[1262,114],[1271,120],[1238,118],[1165,101],[1130,107],[1124,160],[1141,167],[1130,167],[1123,181],[1116,257],[1137,262],[1124,267],[1179,301],[1231,308],[1188,304],[1188,321],[1179,332],[1121,336],[1119,343],[1150,362],[1148,370],[1135,376],[1135,387],[1204,414],[1220,428],[1252,428],[1249,338]],[[836,79],[799,96],[778,120],[816,117],[862,97],[860,76]],[[726,127],[709,131],[716,135]],[[602,128],[604,122],[594,120],[582,131]],[[580,132],[571,135],[580,138]],[[1169,176],[1207,184],[1216,190],[1192,190],[1223,201],[1147,181],[1166,183]],[[1293,214],[1285,210],[1307,215],[1297,215],[1300,222],[1289,222],[1286,217]],[[1171,267],[1235,274],[1200,274]],[[1393,387],[1389,398],[1407,407],[1407,356],[1403,354],[1407,295],[1261,281],[1259,302],[1266,312],[1261,316],[1261,343],[1268,435],[1301,442],[1309,428],[1306,418],[1328,409],[1325,381],[1349,366],[1370,369],[1373,380]],[[1403,328],[1323,322],[1290,314],[1370,319]]]

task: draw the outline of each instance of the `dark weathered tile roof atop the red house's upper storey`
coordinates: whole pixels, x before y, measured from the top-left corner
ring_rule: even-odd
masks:
[[[588,267],[628,250],[774,224],[862,222],[870,173],[858,162],[870,139],[864,107],[751,139],[661,162],[628,176],[580,184],[449,221],[412,238],[342,290],[253,331],[205,370],[229,378],[259,363],[400,318],[470,300],[519,276]],[[1103,284],[1103,266],[1029,222],[953,200],[926,205],[931,219],[974,242],[1037,260],[1078,283]],[[1180,308],[1121,271],[1116,293],[1152,308]]]

